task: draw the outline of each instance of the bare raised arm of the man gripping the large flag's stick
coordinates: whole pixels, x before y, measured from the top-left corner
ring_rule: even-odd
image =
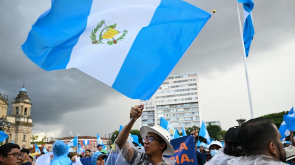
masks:
[[[120,131],[117,139],[116,139],[116,144],[119,147],[119,149],[121,150],[123,147],[127,147],[128,151],[126,154],[126,160],[129,161],[133,155],[134,155],[134,150],[129,148],[129,144],[126,143],[129,133],[131,131],[131,128],[133,126],[133,124],[135,123],[135,121],[141,116],[142,111],[143,111],[144,105],[139,105],[139,106],[134,106],[131,108],[130,110],[130,119],[132,117],[134,117],[127,125],[125,125],[122,130]],[[124,146],[125,145],[125,146]]]

